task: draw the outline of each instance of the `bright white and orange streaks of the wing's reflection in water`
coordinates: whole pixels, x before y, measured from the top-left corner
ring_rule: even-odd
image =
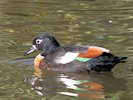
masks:
[[[103,86],[99,83],[87,82],[88,80],[73,80],[69,78],[60,78],[60,81],[63,82],[66,88],[78,90],[81,93],[58,92],[59,94],[75,97],[105,98],[105,95],[102,92]],[[85,88],[79,88],[78,86],[82,86]]]

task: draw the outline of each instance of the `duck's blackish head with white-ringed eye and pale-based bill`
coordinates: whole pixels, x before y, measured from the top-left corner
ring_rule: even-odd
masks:
[[[50,34],[44,33],[42,35],[36,36],[33,39],[32,47],[24,53],[24,55],[28,55],[36,50],[41,50],[45,53],[53,50],[54,48],[59,47],[58,41]]]

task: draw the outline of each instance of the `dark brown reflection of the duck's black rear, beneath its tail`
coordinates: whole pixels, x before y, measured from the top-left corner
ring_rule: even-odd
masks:
[[[105,92],[115,93],[117,91],[127,90],[127,81],[122,78],[114,77],[112,73],[91,74],[88,79],[102,84]]]

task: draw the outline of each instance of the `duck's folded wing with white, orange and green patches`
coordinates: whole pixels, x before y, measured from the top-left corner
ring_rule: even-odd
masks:
[[[86,62],[91,58],[98,57],[103,54],[103,52],[109,52],[108,49],[96,46],[90,46],[85,52],[66,52],[63,56],[56,59],[58,64],[67,64],[74,60]]]

